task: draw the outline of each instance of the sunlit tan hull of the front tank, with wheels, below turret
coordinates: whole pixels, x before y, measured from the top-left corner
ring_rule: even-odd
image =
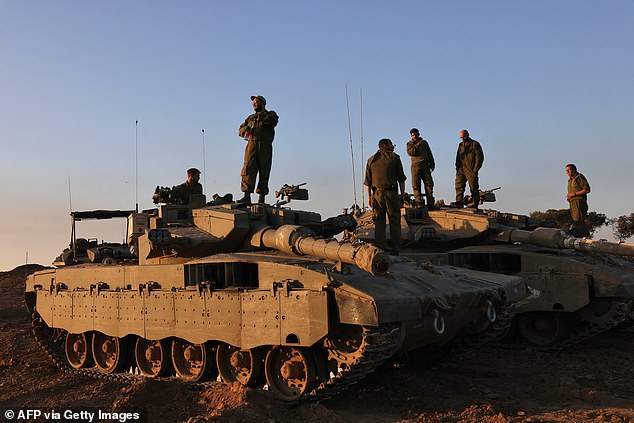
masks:
[[[257,385],[266,369],[286,374],[299,366],[301,392],[289,392],[283,381],[282,399],[325,398],[396,354],[483,334],[494,326],[492,315],[526,295],[524,282],[512,276],[421,267],[406,258],[370,276],[356,266],[283,252],[82,264],[37,272],[26,286],[40,343],[65,371],[121,377],[132,366],[161,368],[157,349],[175,370],[145,376],[202,382],[220,374]],[[141,357],[131,358],[139,348]],[[77,350],[87,352],[78,358]],[[73,368],[90,354],[96,367]],[[285,354],[294,358],[280,358]],[[247,365],[244,356],[251,357]],[[296,357],[308,357],[304,367]],[[123,365],[108,364],[119,358]],[[206,378],[190,374],[194,362]],[[236,370],[245,368],[253,375]]]

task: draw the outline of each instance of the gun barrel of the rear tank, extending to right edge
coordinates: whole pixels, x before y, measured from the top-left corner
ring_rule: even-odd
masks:
[[[589,253],[613,254],[634,257],[634,245],[608,241],[593,241],[568,235],[561,229],[537,228],[533,231],[504,227],[496,235],[496,240],[513,243],[523,242],[546,248],[570,248]]]

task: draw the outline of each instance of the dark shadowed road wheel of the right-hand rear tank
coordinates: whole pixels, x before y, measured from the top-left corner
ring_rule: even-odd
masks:
[[[569,324],[564,313],[532,311],[517,316],[517,328],[530,344],[551,347],[566,338]]]

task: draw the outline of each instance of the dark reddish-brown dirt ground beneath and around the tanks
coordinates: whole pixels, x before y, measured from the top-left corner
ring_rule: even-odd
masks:
[[[0,419],[30,407],[141,410],[150,422],[634,422],[631,328],[564,352],[485,347],[437,368],[388,363],[336,398],[290,405],[239,385],[67,375],[35,343],[22,301],[39,268],[0,272]]]

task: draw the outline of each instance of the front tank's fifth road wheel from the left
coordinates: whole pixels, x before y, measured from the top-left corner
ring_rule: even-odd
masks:
[[[259,379],[262,358],[255,348],[241,350],[221,343],[216,350],[216,365],[224,382],[240,382],[242,385],[252,386]]]

